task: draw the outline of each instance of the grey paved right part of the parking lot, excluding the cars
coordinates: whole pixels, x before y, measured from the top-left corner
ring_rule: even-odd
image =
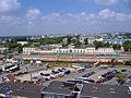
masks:
[[[108,68],[108,69],[106,69],[106,70],[102,70],[102,69],[99,70],[99,66],[97,66],[97,68],[91,68],[91,69],[86,69],[84,72],[81,72],[81,73],[79,73],[79,72],[72,73],[72,74],[69,74],[69,75],[67,75],[67,76],[64,76],[64,77],[57,78],[56,81],[72,81],[72,79],[74,81],[74,79],[78,78],[78,77],[82,77],[82,76],[83,76],[84,74],[86,74],[86,73],[95,72],[95,74],[86,77],[86,79],[93,79],[93,81],[97,82],[97,81],[99,81],[99,78],[98,78],[99,76],[102,76],[103,74],[105,74],[105,73],[107,73],[107,72],[110,72],[110,71],[112,71],[112,70],[117,70],[117,71],[120,72],[120,73],[124,73],[124,74],[127,74],[127,76],[130,76],[130,75],[131,75],[131,69],[124,68],[126,72],[121,72],[122,69],[123,69],[123,68],[121,68],[121,69]],[[50,81],[50,82],[51,82],[51,81]],[[44,83],[44,85],[48,85],[50,82],[46,82],[46,83]],[[102,83],[102,84],[118,85],[117,77],[114,76],[112,78],[110,78],[110,79],[108,79],[108,81],[105,81],[105,82]]]

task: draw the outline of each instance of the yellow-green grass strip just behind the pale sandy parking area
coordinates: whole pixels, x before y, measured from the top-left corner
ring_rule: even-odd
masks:
[[[72,68],[72,64],[71,63],[66,63],[66,62],[49,62],[48,68],[55,68],[55,66]]]

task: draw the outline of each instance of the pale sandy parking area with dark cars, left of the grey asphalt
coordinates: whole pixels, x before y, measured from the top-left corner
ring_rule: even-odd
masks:
[[[15,77],[17,79],[21,79],[21,82],[38,81],[40,78],[41,78],[41,81],[44,81],[44,78],[45,78],[46,81],[49,82],[51,79],[62,77],[63,75],[66,76],[67,74],[70,74],[73,72],[74,72],[74,70],[70,69],[70,68],[53,68],[53,69],[48,69],[48,70],[35,71],[35,72],[31,72],[31,73],[26,73],[26,74],[22,74],[22,75],[16,75]],[[44,83],[46,81],[44,81]]]

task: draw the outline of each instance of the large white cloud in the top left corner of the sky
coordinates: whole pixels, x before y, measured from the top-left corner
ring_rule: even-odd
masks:
[[[0,13],[7,14],[17,11],[21,8],[19,0],[0,0]]]

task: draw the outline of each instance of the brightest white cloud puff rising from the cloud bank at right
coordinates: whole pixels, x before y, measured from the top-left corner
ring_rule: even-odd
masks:
[[[99,17],[102,19],[115,17],[115,15],[116,13],[114,11],[110,11],[109,9],[105,9],[99,12]]]

